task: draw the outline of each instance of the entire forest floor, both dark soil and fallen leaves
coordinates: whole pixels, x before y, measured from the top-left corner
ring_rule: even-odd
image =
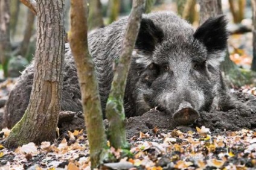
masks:
[[[1,84],[6,95],[14,80]],[[130,152],[110,148],[115,163],[101,169],[255,169],[256,88],[243,87],[233,95],[250,112],[200,112],[190,126],[177,126],[170,115],[152,109],[127,119]],[[107,128],[107,120],[104,120]],[[0,145],[0,169],[90,169],[89,145],[83,114],[58,125],[55,142],[42,142],[8,150]],[[0,132],[0,141],[10,130]]]

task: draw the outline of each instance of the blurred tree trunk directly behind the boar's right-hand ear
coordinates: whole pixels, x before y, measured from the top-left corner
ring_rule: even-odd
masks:
[[[199,0],[200,5],[200,25],[205,22],[209,17],[215,17],[223,14],[221,0]],[[242,86],[246,83],[246,78],[240,72],[239,68],[235,63],[230,60],[229,52],[227,51],[225,60],[222,61],[220,68],[225,75],[226,83]]]

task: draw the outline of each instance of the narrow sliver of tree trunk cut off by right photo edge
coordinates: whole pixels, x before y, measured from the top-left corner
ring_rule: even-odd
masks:
[[[253,46],[253,58],[252,58],[252,71],[256,71],[256,0],[251,0],[252,2],[252,46]]]

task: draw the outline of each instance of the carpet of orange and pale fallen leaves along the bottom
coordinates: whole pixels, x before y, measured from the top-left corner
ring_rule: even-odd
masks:
[[[4,130],[6,131],[6,130]],[[152,130],[153,131],[153,130]],[[2,131],[1,131],[2,133]],[[7,136],[3,136],[6,138]],[[212,134],[209,128],[158,130],[129,139],[130,155],[110,148],[115,162],[102,169],[255,169],[256,132],[248,129]],[[7,150],[0,145],[0,169],[90,169],[85,132],[68,139],[42,142]]]

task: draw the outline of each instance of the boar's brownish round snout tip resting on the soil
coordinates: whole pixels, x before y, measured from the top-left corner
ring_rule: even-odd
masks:
[[[199,118],[199,113],[187,101],[181,102],[179,109],[173,114],[174,121],[179,125],[193,124],[197,118]]]

